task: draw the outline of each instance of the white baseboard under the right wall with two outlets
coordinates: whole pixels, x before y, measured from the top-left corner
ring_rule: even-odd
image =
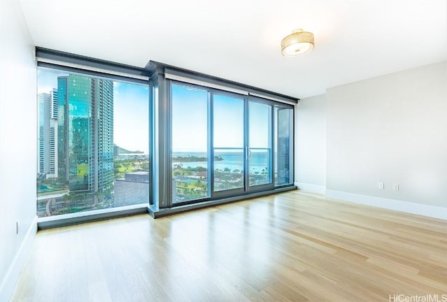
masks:
[[[375,196],[333,191],[330,189],[326,190],[325,195],[330,199],[339,199],[342,201],[360,203],[367,206],[386,208],[388,210],[397,210],[404,213],[411,213],[416,215],[439,218],[441,220],[447,220],[447,208],[440,206],[430,206],[420,203],[412,203],[409,201],[400,201],[396,199],[385,199]]]

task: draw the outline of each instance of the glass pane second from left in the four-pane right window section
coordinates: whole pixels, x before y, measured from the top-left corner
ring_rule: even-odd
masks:
[[[244,187],[244,100],[215,94],[214,192]]]

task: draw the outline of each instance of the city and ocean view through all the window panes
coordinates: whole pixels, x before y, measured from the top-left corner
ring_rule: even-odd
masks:
[[[171,89],[173,203],[291,183],[291,108]],[[39,69],[37,102],[38,217],[149,203],[147,85]]]

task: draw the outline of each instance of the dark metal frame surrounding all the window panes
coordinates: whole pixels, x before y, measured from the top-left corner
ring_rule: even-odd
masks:
[[[70,217],[66,220],[42,221],[38,222],[39,228],[60,227],[67,224],[75,224],[80,222],[89,222],[94,220],[103,220],[111,217],[120,217],[124,215],[133,215],[138,213],[149,213],[152,217],[161,217],[173,213],[183,212],[185,210],[193,210],[196,208],[204,208],[207,206],[214,206],[221,203],[247,199],[255,196],[262,196],[272,194],[275,192],[283,192],[297,187],[292,183],[290,185],[283,185],[279,187],[274,186],[274,159],[272,159],[272,173],[273,173],[273,188],[267,191],[248,191],[244,194],[222,194],[216,196],[216,199],[207,199],[200,203],[172,203],[172,184],[170,178],[172,175],[172,168],[168,168],[170,163],[170,154],[168,154],[170,143],[166,138],[166,134],[170,136],[170,116],[165,115],[170,112],[170,85],[168,83],[172,80],[169,75],[184,78],[185,80],[176,80],[184,82],[187,85],[195,85],[195,81],[204,82],[205,88],[219,94],[236,94],[237,97],[243,97],[245,100],[256,99],[265,103],[285,103],[288,106],[297,104],[300,99],[285,94],[279,94],[267,89],[245,85],[240,82],[226,80],[223,78],[198,73],[188,69],[182,69],[168,64],[149,61],[145,68],[130,66],[126,64],[119,64],[102,59],[95,59],[92,57],[85,57],[75,55],[69,52],[61,52],[58,50],[50,50],[47,48],[36,47],[37,66],[51,69],[59,69],[68,71],[70,73],[81,73],[98,78],[108,78],[112,80],[136,82],[148,85],[149,87],[149,199],[150,204],[147,208],[116,210],[111,213],[90,213],[82,217]],[[174,79],[174,78],[173,78]],[[175,79],[174,79],[175,80]],[[209,87],[207,86],[209,84]],[[202,87],[202,85],[198,85]],[[244,94],[237,94],[233,90],[243,90]],[[209,109],[211,110],[211,109]],[[272,115],[274,110],[272,110]],[[293,115],[295,112],[293,111]],[[273,120],[272,120],[273,122]],[[208,122],[210,123],[210,122]],[[295,120],[293,118],[293,131],[295,127]],[[155,133],[156,131],[156,133]],[[272,131],[274,129],[272,128]],[[274,136],[272,136],[272,140]],[[292,138],[293,148],[295,148],[295,138]],[[159,152],[161,150],[161,152]],[[293,149],[294,150],[294,149]],[[155,155],[155,153],[157,153]],[[272,154],[274,154],[274,142],[272,142]],[[274,157],[272,155],[272,157]],[[156,159],[156,162],[154,162]],[[293,154],[294,161],[294,154]],[[161,171],[161,168],[166,170]],[[294,168],[294,167],[293,167]],[[170,171],[170,173],[166,173]],[[294,175],[294,172],[292,172]],[[156,179],[157,178],[157,179]],[[236,193],[236,192],[235,192]],[[217,194],[219,195],[219,194]],[[88,213],[88,212],[86,212]]]

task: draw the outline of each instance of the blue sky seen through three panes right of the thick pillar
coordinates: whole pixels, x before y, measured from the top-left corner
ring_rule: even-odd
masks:
[[[173,152],[207,151],[207,91],[173,85]],[[214,148],[244,148],[244,100],[214,94]],[[270,106],[250,102],[249,145],[268,148]]]

